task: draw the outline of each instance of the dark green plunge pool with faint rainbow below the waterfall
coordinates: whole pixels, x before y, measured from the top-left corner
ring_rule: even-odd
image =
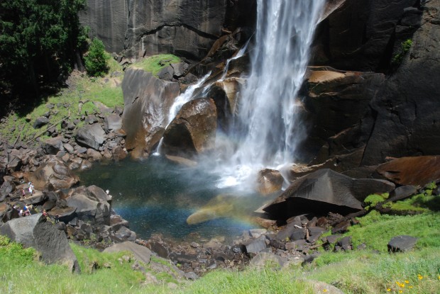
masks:
[[[82,185],[109,189],[113,209],[143,239],[153,233],[174,239],[189,239],[194,233],[202,238],[237,236],[243,230],[258,227],[250,221],[250,215],[275,197],[216,188],[218,176],[172,164],[161,157],[96,165],[79,177]],[[232,209],[217,219],[187,225],[189,215],[207,203],[215,203],[216,199],[228,201]]]

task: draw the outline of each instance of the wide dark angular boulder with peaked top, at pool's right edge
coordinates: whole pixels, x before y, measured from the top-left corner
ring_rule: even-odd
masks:
[[[295,180],[263,210],[277,220],[304,213],[347,214],[362,210],[361,204],[368,195],[390,192],[394,188],[388,181],[352,179],[331,169],[320,169]]]

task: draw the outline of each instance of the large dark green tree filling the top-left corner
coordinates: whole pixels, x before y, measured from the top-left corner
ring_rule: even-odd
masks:
[[[0,90],[35,98],[80,64],[85,0],[0,0]]]

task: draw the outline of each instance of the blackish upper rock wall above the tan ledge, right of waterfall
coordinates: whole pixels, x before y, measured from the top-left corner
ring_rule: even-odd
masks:
[[[419,1],[336,2],[336,10],[317,28],[312,63],[344,70],[384,71],[391,58],[396,28],[407,19],[405,9],[419,6]]]

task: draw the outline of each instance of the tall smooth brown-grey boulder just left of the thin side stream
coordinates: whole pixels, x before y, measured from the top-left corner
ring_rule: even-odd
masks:
[[[163,81],[142,69],[128,69],[122,81],[123,130],[133,157],[153,152],[168,123],[168,113],[180,93],[178,83]]]

